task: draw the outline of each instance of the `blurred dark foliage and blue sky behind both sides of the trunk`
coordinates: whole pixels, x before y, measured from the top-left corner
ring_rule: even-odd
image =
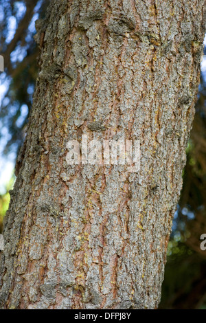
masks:
[[[23,142],[37,75],[35,21],[49,0],[4,0],[0,4],[0,233],[15,181],[16,154]],[[206,45],[206,38],[205,38]],[[206,309],[206,46],[196,115],[187,146],[183,190],[176,207],[160,309]]]

